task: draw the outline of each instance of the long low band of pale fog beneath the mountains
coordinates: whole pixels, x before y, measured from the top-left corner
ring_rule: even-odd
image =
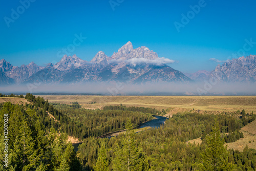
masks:
[[[72,84],[40,84],[30,91],[26,85],[1,86],[5,93],[77,93],[101,95],[256,95],[256,83],[209,82],[83,82]]]

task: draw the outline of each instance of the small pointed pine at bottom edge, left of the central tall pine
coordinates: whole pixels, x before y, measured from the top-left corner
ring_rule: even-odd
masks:
[[[95,171],[109,170],[109,164],[108,164],[108,160],[106,159],[106,148],[105,148],[104,142],[101,144],[101,147],[98,153],[97,162],[93,168]]]

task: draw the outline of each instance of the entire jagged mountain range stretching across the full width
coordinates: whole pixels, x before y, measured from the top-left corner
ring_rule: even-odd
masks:
[[[127,83],[144,82],[191,82],[217,78],[224,82],[255,82],[256,56],[250,55],[229,60],[215,70],[198,71],[193,74],[169,67],[173,60],[158,57],[147,47],[133,48],[129,41],[112,56],[99,51],[91,61],[76,55],[64,55],[55,65],[45,67],[34,62],[14,67],[5,59],[0,60],[0,85],[44,83],[76,83],[87,81],[120,81]]]

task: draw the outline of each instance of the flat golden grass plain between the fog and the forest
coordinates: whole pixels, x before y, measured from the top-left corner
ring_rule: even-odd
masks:
[[[256,96],[41,96],[49,102],[71,104],[77,101],[84,108],[101,109],[104,105],[143,106],[158,110],[168,108],[237,111],[256,111]],[[94,104],[89,104],[95,102]]]

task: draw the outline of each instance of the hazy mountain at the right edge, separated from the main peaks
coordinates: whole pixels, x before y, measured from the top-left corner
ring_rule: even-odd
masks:
[[[256,56],[240,57],[218,65],[209,77],[224,82],[255,82]]]

